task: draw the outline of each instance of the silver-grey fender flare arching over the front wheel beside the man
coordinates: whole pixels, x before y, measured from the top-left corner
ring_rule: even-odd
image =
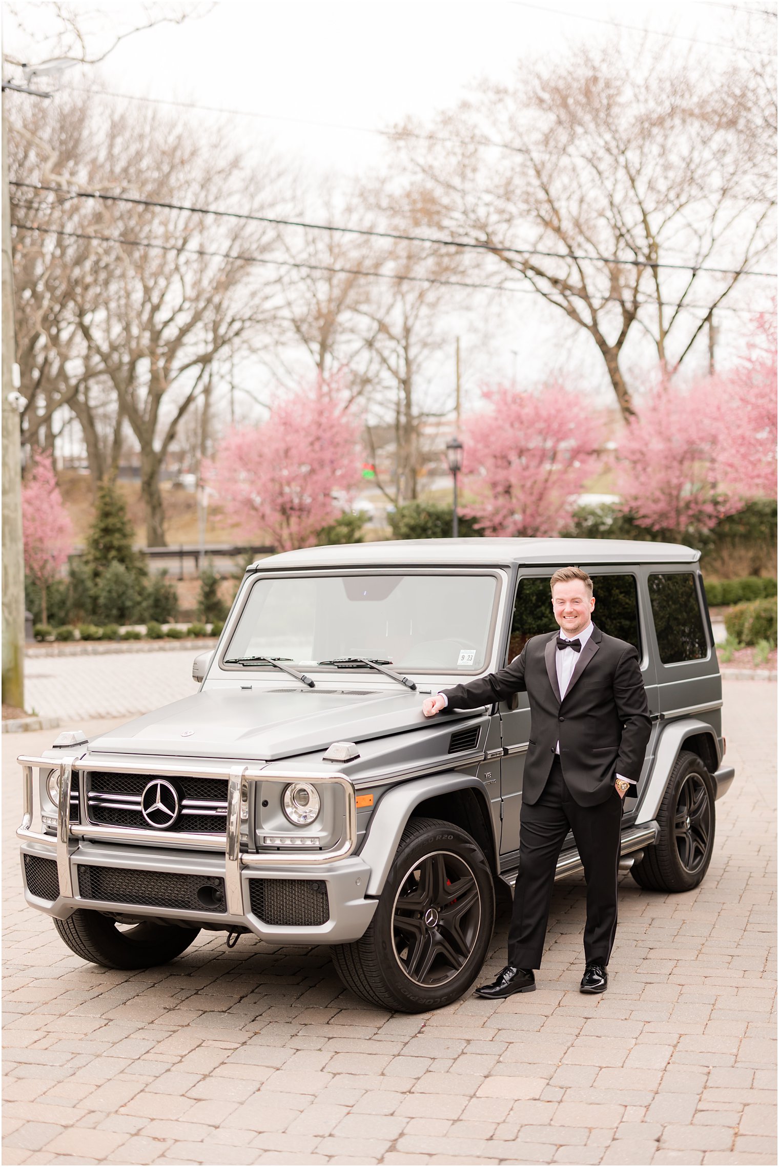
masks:
[[[486,806],[490,806],[490,795],[486,787],[479,778],[470,774],[434,774],[428,778],[416,778],[413,782],[400,783],[384,795],[371,816],[365,841],[359,852],[360,859],[371,868],[371,875],[365,889],[366,896],[381,895],[392,861],[398,851],[400,837],[406,830],[406,824],[410,818],[412,811],[428,798],[451,794],[455,790],[468,789],[482,794]],[[492,824],[492,816],[490,816],[490,823]],[[491,830],[496,855],[498,855],[499,840],[494,838],[494,827],[492,825]]]

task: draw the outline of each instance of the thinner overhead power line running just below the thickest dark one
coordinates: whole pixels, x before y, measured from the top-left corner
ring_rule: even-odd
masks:
[[[500,284],[477,284],[469,282],[465,280],[441,280],[431,275],[400,275],[394,272],[366,272],[359,267],[329,267],[324,264],[306,264],[296,263],[289,259],[271,259],[259,256],[246,256],[246,254],[234,254],[226,251],[210,251],[203,247],[178,247],[170,243],[149,243],[147,239],[124,239],[120,236],[112,235],[91,235],[85,231],[63,231],[56,226],[38,226],[34,223],[14,223],[13,226],[19,231],[34,231],[41,235],[58,235],[66,239],[85,239],[93,243],[117,243],[128,247],[150,247],[156,251],[173,251],[177,254],[188,256],[201,256],[205,259],[234,259],[240,260],[246,264],[261,264],[266,266],[275,267],[290,267],[303,271],[311,272],[324,272],[331,275],[360,275],[366,279],[379,279],[379,280],[393,280],[395,284],[435,284],[441,287],[456,287],[456,288],[469,288],[479,289],[487,292],[508,292],[514,295],[539,295],[533,288],[518,288],[512,285],[500,285]],[[575,295],[574,293],[555,292],[563,300],[581,300],[582,298]],[[599,303],[624,303],[619,296],[604,296],[599,300]],[[658,300],[641,300],[638,302],[638,307],[658,307],[658,303],[664,308],[676,308],[679,305],[673,301],[658,301]],[[709,312],[709,305],[689,303],[685,305],[685,308],[690,310]],[[753,308],[736,308],[730,305],[717,305],[717,312],[746,312],[753,314],[757,309]],[[770,309],[765,309],[770,310]]]

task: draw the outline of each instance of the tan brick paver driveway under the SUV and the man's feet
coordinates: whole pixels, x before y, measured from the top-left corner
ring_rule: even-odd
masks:
[[[577,992],[574,878],[538,992],[417,1016],[362,1005],[325,949],[202,932],[163,969],[85,965],[24,907],[10,841],[9,760],[51,734],[6,735],[3,1162],[776,1163],[776,696],[725,684],[737,778],[709,874],[668,896],[623,879],[604,997]]]

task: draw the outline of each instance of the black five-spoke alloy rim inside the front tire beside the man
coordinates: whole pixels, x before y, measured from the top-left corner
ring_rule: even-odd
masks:
[[[393,909],[392,944],[415,985],[445,985],[468,962],[479,934],[482,897],[461,855],[434,851],[402,880]]]

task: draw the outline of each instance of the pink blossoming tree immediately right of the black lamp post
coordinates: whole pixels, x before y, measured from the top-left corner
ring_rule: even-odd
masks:
[[[557,534],[595,469],[601,419],[557,384],[522,392],[498,385],[483,398],[487,407],[463,438],[464,485],[475,498],[463,513],[486,534]]]

